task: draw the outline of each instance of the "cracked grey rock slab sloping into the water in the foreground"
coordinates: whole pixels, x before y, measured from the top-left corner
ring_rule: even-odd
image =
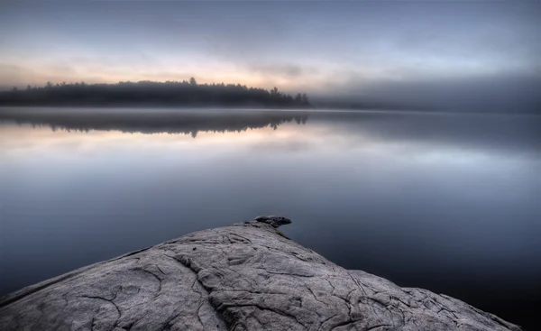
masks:
[[[0,299],[1,330],[520,330],[348,271],[252,221],[128,253]]]

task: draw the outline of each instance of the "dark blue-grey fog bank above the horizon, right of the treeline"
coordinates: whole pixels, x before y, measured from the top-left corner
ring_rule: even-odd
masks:
[[[500,73],[489,77],[373,79],[354,76],[329,83],[326,92],[352,101],[377,100],[442,110],[538,113],[541,75]],[[325,96],[326,92],[320,92]]]

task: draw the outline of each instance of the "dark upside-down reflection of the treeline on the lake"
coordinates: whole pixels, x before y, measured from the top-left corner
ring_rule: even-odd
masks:
[[[126,133],[184,133],[196,137],[199,132],[237,132],[271,127],[295,121],[306,124],[309,113],[283,111],[245,112],[99,112],[88,111],[0,111],[0,120],[17,124],[50,126],[52,131],[66,130],[88,132],[122,131]]]

